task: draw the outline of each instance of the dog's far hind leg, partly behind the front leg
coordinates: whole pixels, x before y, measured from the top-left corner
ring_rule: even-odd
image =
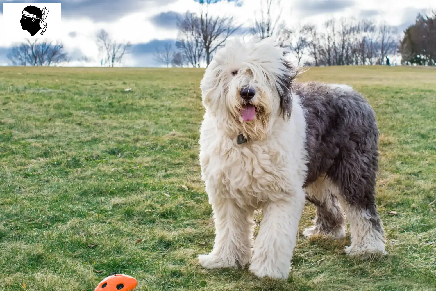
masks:
[[[324,235],[335,240],[345,236],[345,216],[336,195],[339,189],[335,187],[330,178],[319,177],[305,188],[306,199],[316,207],[316,216],[313,226],[305,229],[306,237]]]

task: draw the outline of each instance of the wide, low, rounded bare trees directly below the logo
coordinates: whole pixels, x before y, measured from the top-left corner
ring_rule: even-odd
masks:
[[[70,61],[61,42],[39,41],[37,38],[27,39],[11,48],[7,58],[12,65],[19,66],[50,66]]]

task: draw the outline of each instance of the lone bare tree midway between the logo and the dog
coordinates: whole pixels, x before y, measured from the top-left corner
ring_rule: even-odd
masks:
[[[109,34],[102,29],[97,33],[97,46],[99,51],[104,55],[102,65],[105,64],[113,67],[115,64],[121,64],[124,55],[130,48],[129,42],[119,42],[112,39]]]

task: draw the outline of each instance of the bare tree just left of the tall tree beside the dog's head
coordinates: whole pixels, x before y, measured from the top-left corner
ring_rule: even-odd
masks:
[[[193,67],[200,67],[204,57],[200,20],[194,13],[187,12],[183,18],[177,21],[177,27],[179,33],[176,48],[179,49],[188,64]]]

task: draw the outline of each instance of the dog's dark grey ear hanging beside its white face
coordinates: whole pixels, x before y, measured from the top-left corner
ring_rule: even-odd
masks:
[[[282,65],[283,67],[277,76],[276,86],[280,97],[281,114],[283,115],[283,119],[289,120],[292,114],[291,90],[298,69],[286,60],[282,61]]]

